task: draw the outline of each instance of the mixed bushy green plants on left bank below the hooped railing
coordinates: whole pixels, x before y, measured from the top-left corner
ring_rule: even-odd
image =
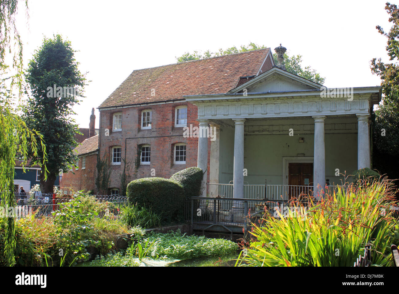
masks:
[[[112,203],[95,201],[78,192],[70,202],[61,204],[53,217],[32,216],[16,221],[16,266],[69,266],[89,257],[89,246],[94,246],[99,254],[107,254],[115,249],[115,241],[122,234],[142,238],[141,228],[129,230],[112,214]],[[0,250],[4,250],[5,224],[6,218],[0,218]],[[5,264],[5,257],[0,255],[0,266]]]

